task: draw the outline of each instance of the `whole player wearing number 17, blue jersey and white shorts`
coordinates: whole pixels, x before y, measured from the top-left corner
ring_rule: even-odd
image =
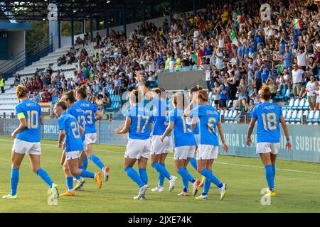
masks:
[[[124,170],[139,186],[139,194],[134,199],[145,199],[148,188],[148,176],[146,175],[146,162],[150,155],[152,129],[151,114],[140,103],[142,94],[133,90],[129,96],[130,108],[125,114],[126,121],[123,128],[117,128],[114,133],[124,134],[129,132],[129,140],[124,154]],[[132,167],[137,162],[139,174]]]

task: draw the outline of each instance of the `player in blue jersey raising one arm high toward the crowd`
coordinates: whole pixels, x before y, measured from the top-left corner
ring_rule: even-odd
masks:
[[[158,87],[150,92],[144,85],[142,74],[138,71],[136,71],[136,74],[140,91],[154,106],[154,128],[152,131],[150,164],[158,172],[159,183],[154,189],[151,189],[151,192],[164,191],[165,177],[169,179],[169,192],[171,192],[174,189],[177,177],[171,176],[168,170],[166,170],[165,161],[168,153],[171,153],[173,150],[172,138],[168,135],[163,142],[161,141],[161,135],[164,134],[168,126],[169,103],[166,101],[166,91]]]

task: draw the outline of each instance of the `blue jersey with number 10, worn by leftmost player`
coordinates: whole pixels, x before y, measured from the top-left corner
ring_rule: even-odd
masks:
[[[16,106],[16,115],[18,118],[24,116],[27,122],[27,128],[18,133],[17,139],[31,143],[40,142],[41,106],[35,101],[26,99]]]

